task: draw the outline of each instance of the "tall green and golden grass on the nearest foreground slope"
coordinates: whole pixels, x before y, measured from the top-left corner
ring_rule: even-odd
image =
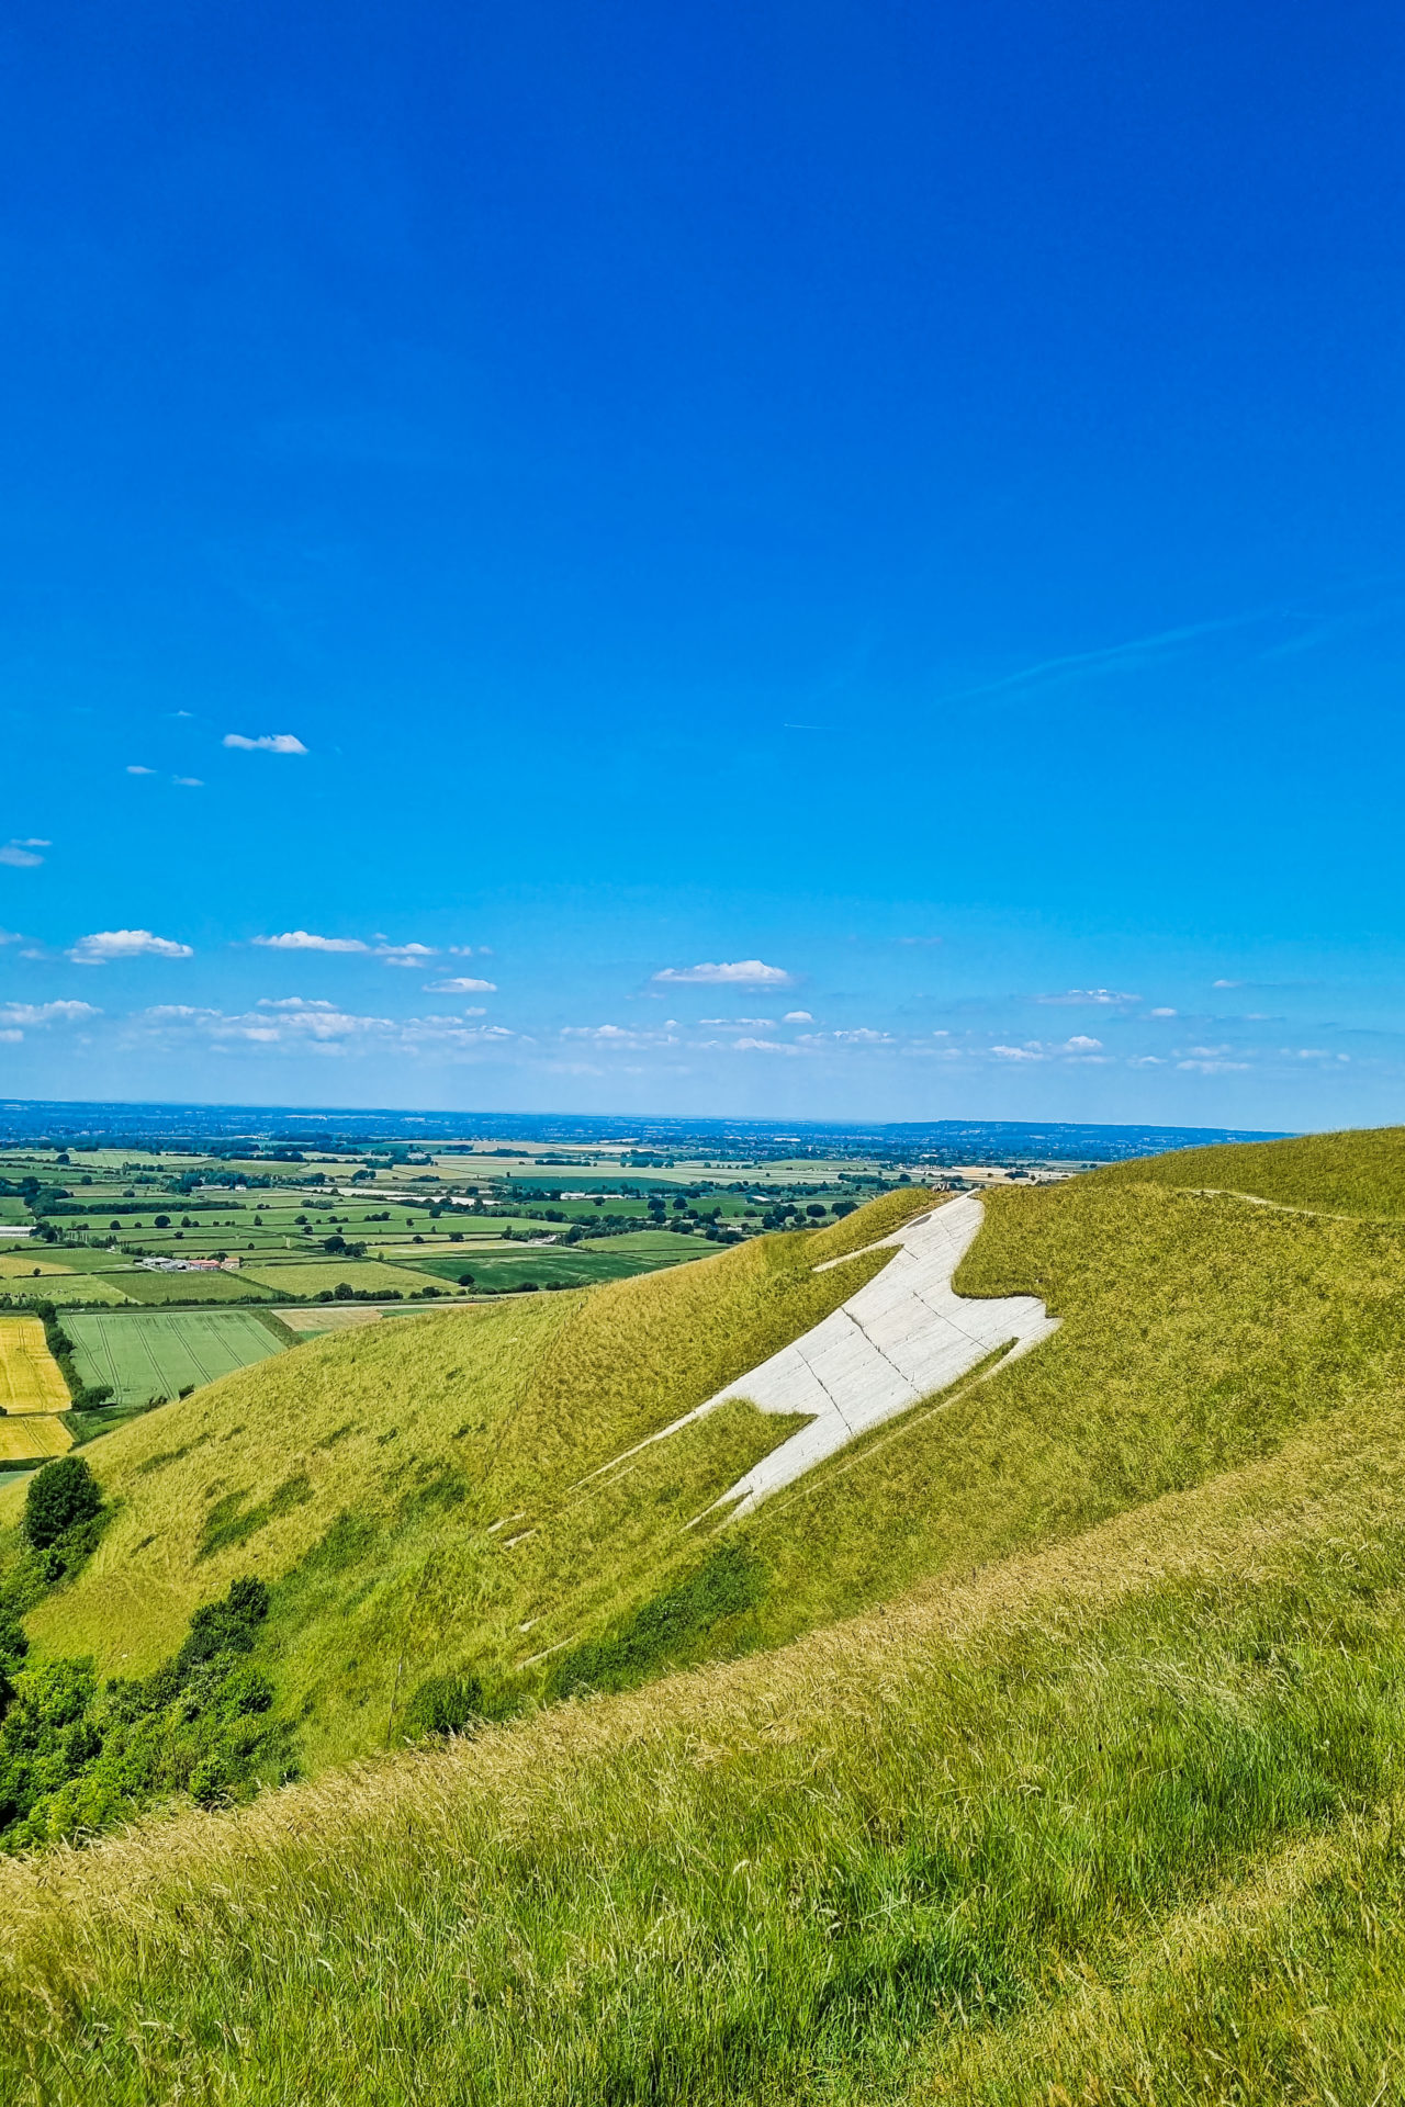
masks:
[[[1403,1403],[767,1660],[4,1867],[6,2096],[1365,2101]]]

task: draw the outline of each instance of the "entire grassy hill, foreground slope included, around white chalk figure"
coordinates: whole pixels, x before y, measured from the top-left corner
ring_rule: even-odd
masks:
[[[154,1662],[261,1572],[310,1770],[447,1667],[522,1715],[0,1865],[6,2096],[1399,2096],[1403,1138],[1317,1140],[990,1195],[956,1285],[1055,1338],[701,1542],[788,1422],[583,1475],[925,1197],[103,1437],[36,1646]]]

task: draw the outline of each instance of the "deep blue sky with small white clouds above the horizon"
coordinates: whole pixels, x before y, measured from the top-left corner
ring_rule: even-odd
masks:
[[[19,0],[0,1089],[1399,1117],[1403,44]]]

